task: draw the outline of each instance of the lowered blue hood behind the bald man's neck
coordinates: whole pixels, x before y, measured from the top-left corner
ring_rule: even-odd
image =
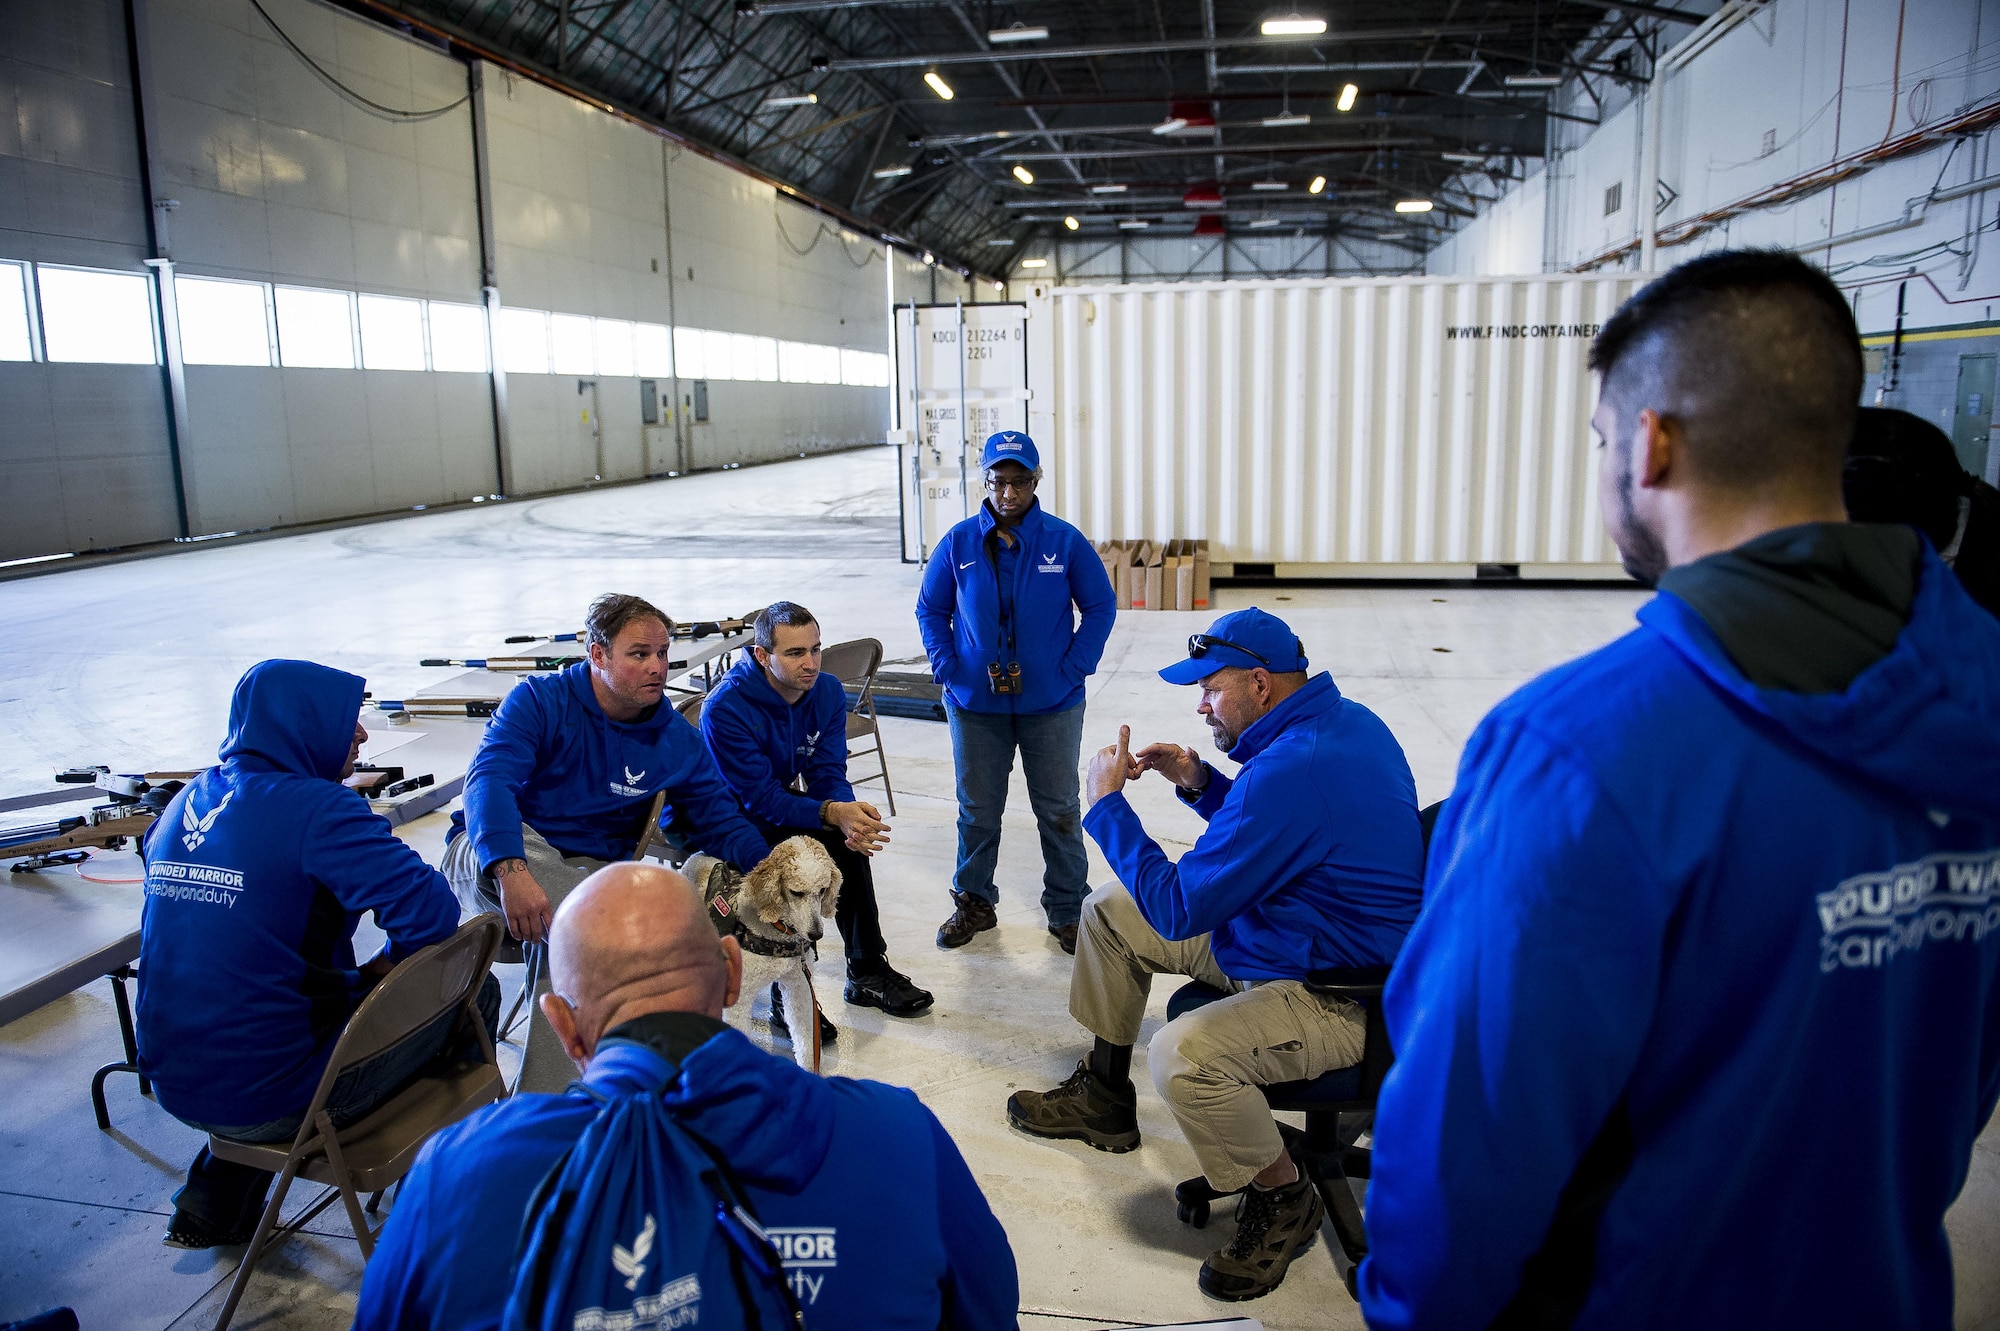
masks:
[[[630,1089],[658,1083],[662,1067],[672,1063],[644,1045],[606,1041],[588,1079]],[[834,1143],[832,1087],[734,1027],[702,1041],[662,1099],[756,1187],[796,1193],[820,1173]]]

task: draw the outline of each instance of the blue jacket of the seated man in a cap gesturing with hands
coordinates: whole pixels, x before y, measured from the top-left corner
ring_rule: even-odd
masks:
[[[1168,939],[1214,933],[1232,979],[1298,979],[1328,965],[1388,965],[1416,919],[1424,831],[1416,781],[1388,725],[1318,673],[1208,767],[1208,821],[1170,861],[1124,791],[1090,805],[1096,839],[1146,923]]]

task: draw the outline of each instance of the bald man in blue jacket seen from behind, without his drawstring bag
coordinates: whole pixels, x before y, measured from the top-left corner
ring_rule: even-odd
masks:
[[[806,1325],[1016,1325],[1014,1253],[944,1127],[910,1091],[816,1077],[724,1025],[742,953],[718,945],[684,877],[594,873],[556,913],[550,965],[542,1007],[584,1081],[656,1089],[728,1161]],[[530,1199],[596,1113],[584,1091],[516,1095],[438,1133],[376,1243],[356,1329],[498,1327]],[[712,1207],[658,1219],[716,1223]]]

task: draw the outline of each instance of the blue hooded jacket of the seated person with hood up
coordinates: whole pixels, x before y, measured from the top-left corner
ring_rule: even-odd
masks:
[[[368,985],[368,911],[402,959],[458,927],[458,899],[340,783],[358,675],[252,666],[222,765],[146,829],[138,1063],[168,1113],[254,1127],[302,1111]]]

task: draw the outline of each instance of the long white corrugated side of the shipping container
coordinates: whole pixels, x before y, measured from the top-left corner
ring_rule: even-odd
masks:
[[[1610,574],[1586,356],[1636,286],[1038,288],[1050,504],[1092,540],[1206,538],[1280,576]]]

